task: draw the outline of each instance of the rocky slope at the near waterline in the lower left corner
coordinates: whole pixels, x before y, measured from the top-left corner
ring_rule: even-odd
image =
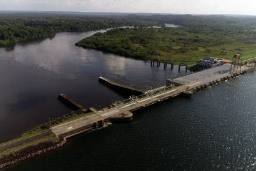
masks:
[[[51,150],[59,149],[64,146],[64,144],[66,144],[66,139],[62,139],[62,141],[59,142],[42,142],[36,146],[29,146],[18,152],[3,155],[0,159],[0,170],[19,164],[19,162],[31,159],[37,155],[46,154]]]

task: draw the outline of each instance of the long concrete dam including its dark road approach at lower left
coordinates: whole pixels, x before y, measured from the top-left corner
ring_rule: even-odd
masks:
[[[239,75],[245,74],[255,70],[255,60],[250,60],[240,67],[239,72],[231,70],[230,64],[220,65],[208,70],[190,73],[189,75],[180,76],[179,78],[166,80],[165,86],[160,86],[154,90],[145,90],[142,95],[130,96],[129,99],[124,101],[117,101],[111,105],[102,108],[85,109],[81,104],[72,100],[64,94],[60,94],[59,99],[67,103],[69,106],[81,109],[88,115],[72,121],[62,122],[51,126],[46,132],[41,132],[34,136],[15,139],[10,142],[0,144],[0,152],[15,149],[16,147],[23,146],[24,143],[37,141],[49,136],[57,137],[59,140],[65,140],[69,137],[76,136],[83,132],[100,129],[110,123],[130,122],[133,119],[133,111],[138,109],[147,108],[155,103],[160,103],[166,99],[175,98],[176,96],[190,97],[199,90],[204,90],[208,86],[215,85],[219,82],[235,78]],[[116,84],[114,81],[109,83]],[[122,85],[121,85],[122,86]],[[129,90],[129,86],[125,86]]]

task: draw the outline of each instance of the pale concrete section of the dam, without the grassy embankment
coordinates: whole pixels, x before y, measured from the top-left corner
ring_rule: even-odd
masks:
[[[111,105],[111,108],[94,110],[90,116],[51,127],[51,131],[59,138],[71,137],[82,132],[104,127],[109,122],[130,121],[132,120],[132,111],[146,108],[152,104],[160,103],[179,95],[191,96],[196,91],[207,88],[207,86],[212,86],[221,81],[229,80],[255,70],[255,63],[247,66],[243,65],[239,72],[230,70],[230,67],[230,64],[224,64],[209,70],[169,79],[166,81],[165,86],[143,91],[142,95],[119,101]],[[106,78],[101,78],[101,80],[109,82]],[[112,84],[111,81],[110,83]],[[126,86],[123,87],[126,88]]]

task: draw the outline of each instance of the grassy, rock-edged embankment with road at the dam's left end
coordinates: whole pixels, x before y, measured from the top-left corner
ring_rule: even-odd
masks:
[[[51,121],[41,124],[34,129],[24,132],[22,136],[17,139],[1,143],[0,170],[64,146],[67,142],[67,137],[58,139],[50,131],[50,127],[52,125],[58,125],[88,115],[88,113],[85,114],[81,110],[71,111],[69,114],[52,119]],[[54,140],[52,141],[51,138]]]

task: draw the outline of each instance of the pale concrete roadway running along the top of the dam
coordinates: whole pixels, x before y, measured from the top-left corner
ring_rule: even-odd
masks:
[[[243,67],[242,70],[249,70],[248,67]],[[195,73],[197,74],[197,73]],[[191,75],[190,75],[191,76]],[[205,77],[200,77],[200,80],[192,80],[189,83],[185,83],[184,85],[177,86],[175,88],[158,88],[158,93],[152,93],[154,91],[147,91],[147,95],[137,96],[132,99],[128,99],[121,103],[115,104],[113,108],[110,109],[102,109],[100,111],[94,111],[94,114],[87,116],[85,118],[77,119],[75,121],[67,122],[58,126],[54,126],[51,128],[51,131],[60,136],[62,134],[66,135],[69,132],[76,132],[76,130],[81,130],[82,127],[91,126],[95,122],[105,121],[108,118],[112,118],[114,116],[118,116],[126,111],[135,111],[140,108],[145,108],[151,104],[163,101],[165,99],[173,98],[175,96],[184,93],[185,91],[194,90],[202,85],[206,85],[207,83],[211,83],[212,81],[220,80],[222,78],[226,78],[227,76],[231,76],[229,72],[219,73],[214,72],[212,75],[207,75]],[[151,93],[150,93],[151,92]],[[91,128],[92,129],[92,128]]]

